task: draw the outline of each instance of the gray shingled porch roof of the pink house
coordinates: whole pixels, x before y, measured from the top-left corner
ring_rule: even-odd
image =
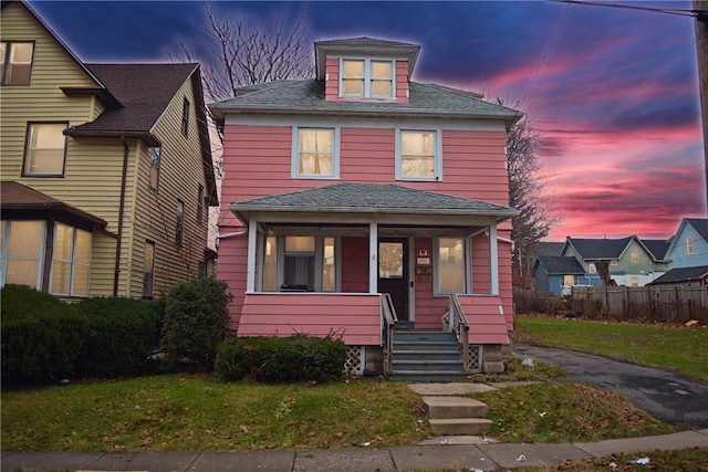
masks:
[[[518,213],[501,204],[394,183],[352,182],[236,201],[229,209],[244,222],[252,212],[470,216],[498,222]]]

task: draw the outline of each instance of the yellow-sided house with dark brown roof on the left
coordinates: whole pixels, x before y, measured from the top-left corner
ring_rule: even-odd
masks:
[[[208,272],[199,66],[85,64],[24,2],[0,40],[0,284],[152,297]]]

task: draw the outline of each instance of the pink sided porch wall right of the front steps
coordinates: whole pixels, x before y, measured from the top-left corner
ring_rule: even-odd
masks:
[[[458,295],[457,300],[469,322],[470,344],[510,344],[498,296]]]

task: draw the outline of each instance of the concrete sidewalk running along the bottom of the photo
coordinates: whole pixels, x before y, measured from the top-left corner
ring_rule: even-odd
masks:
[[[404,448],[304,451],[2,452],[0,470],[384,472],[465,468],[499,471],[553,465],[566,460],[603,458],[614,453],[636,453],[638,458],[639,453],[655,449],[708,448],[708,429],[572,444],[485,443],[481,438],[472,441],[477,443],[462,444],[461,441],[461,438],[441,437],[426,441],[426,444]]]

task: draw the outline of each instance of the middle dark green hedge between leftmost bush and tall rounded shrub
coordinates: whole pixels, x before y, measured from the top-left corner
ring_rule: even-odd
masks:
[[[124,297],[88,298],[79,304],[91,329],[76,359],[82,377],[127,377],[154,371],[149,354],[158,347],[156,302]]]

